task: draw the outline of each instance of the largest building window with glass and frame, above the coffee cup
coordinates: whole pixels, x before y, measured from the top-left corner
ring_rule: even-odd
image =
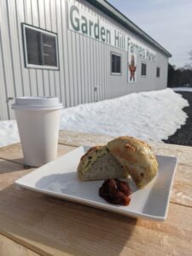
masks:
[[[26,67],[58,69],[57,35],[22,24]]]

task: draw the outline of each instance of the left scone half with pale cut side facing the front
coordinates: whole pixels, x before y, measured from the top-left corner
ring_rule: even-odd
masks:
[[[82,156],[78,166],[78,177],[81,181],[88,181],[108,177],[127,177],[127,174],[106,146],[96,146]]]

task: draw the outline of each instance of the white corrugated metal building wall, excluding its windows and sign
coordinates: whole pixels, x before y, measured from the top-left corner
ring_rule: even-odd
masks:
[[[14,119],[10,109],[18,96],[58,96],[64,107],[96,102],[130,92],[166,88],[167,57],[156,52],[156,62],[148,63],[147,77],[142,78],[137,62],[137,83],[127,83],[127,52],[103,44],[67,28],[67,1],[73,0],[7,0],[0,1],[0,119]],[[77,3],[77,2],[76,2]],[[123,26],[84,0],[79,5],[97,13],[112,26],[127,32]],[[60,70],[26,68],[21,22],[56,32]],[[132,37],[135,37],[129,32]],[[137,38],[137,37],[135,37]],[[139,38],[137,38],[138,40]],[[111,75],[110,53],[122,55],[122,75]],[[160,79],[156,78],[160,67]]]

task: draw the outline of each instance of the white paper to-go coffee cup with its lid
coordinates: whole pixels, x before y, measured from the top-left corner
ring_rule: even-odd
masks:
[[[57,155],[62,104],[56,97],[20,97],[12,105],[26,166],[42,166]]]

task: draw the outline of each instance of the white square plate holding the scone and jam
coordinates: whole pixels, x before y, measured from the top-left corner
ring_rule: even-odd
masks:
[[[78,180],[76,172],[79,160],[88,149],[89,147],[85,146],[76,148],[68,154],[64,154],[60,158],[39,167],[34,172],[21,177],[15,184],[46,195],[134,218],[166,219],[177,158],[157,155],[159,162],[158,175],[144,189],[137,189],[130,179],[131,203],[129,206],[123,207],[109,204],[98,195],[103,181],[80,182]]]

